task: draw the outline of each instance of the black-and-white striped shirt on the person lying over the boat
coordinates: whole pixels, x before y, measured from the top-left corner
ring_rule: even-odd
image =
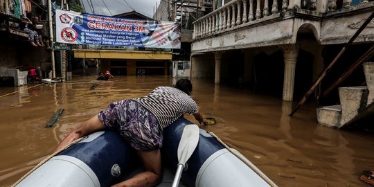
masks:
[[[157,87],[148,96],[134,100],[156,116],[162,129],[186,113],[197,112],[195,100],[175,87]]]

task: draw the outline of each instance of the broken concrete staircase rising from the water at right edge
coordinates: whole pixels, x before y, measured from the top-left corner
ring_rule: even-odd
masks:
[[[367,86],[339,87],[340,105],[317,107],[318,123],[340,129],[364,115],[374,115],[374,62],[363,66]]]

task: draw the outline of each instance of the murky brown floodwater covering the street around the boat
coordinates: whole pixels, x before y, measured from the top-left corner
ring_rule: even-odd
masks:
[[[77,123],[112,101],[140,97],[175,81],[168,76],[95,78],[0,87],[0,186],[14,184]],[[193,86],[199,111],[217,119],[216,125],[203,128],[244,154],[278,186],[369,186],[359,175],[374,169],[373,133],[321,126],[314,105],[305,104],[290,117],[292,103],[281,98],[207,79],[193,79]],[[46,128],[58,109],[64,109],[59,120]]]

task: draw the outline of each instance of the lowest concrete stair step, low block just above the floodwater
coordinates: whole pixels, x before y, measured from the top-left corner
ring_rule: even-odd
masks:
[[[317,121],[328,127],[340,127],[341,105],[323,106],[317,108]]]

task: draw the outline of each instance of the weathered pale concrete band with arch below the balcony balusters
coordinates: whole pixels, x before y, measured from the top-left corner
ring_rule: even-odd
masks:
[[[374,1],[333,12],[326,12],[326,1],[317,2],[317,6],[320,12],[294,8],[225,30],[218,30],[207,36],[206,34],[203,37],[199,36],[193,41],[192,52],[206,53],[296,44],[301,29],[312,30],[318,44],[345,44],[371,15]],[[372,23],[368,24],[355,39],[355,43],[363,42],[374,42]]]

